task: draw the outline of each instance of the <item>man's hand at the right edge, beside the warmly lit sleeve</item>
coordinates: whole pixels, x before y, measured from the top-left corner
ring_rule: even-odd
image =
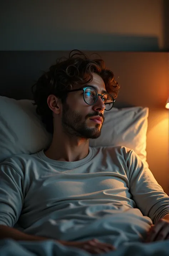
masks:
[[[169,239],[169,219],[162,218],[151,226],[148,231],[146,243]]]

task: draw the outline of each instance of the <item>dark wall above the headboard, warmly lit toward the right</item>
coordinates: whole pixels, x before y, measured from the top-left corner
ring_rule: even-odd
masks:
[[[0,50],[161,51],[167,2],[2,0]]]

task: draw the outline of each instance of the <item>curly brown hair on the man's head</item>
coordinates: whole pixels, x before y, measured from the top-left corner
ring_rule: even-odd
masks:
[[[37,105],[36,113],[41,116],[49,133],[53,134],[53,114],[47,104],[48,96],[53,94],[64,104],[67,91],[91,82],[92,73],[102,77],[107,92],[116,99],[120,85],[114,80],[113,72],[106,68],[101,58],[91,60],[78,50],[71,51],[68,58],[58,58],[56,64],[47,72],[43,71],[42,76],[32,86],[32,104]]]

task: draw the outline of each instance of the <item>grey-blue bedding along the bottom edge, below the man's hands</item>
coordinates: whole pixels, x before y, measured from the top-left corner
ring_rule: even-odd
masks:
[[[11,239],[0,240],[0,256],[91,256],[74,247],[66,247],[51,240],[23,242]],[[126,243],[116,251],[102,253],[105,256],[168,256],[169,240],[152,243]]]

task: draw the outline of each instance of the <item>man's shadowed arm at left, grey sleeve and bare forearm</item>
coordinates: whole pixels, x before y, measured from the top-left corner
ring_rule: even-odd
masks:
[[[51,238],[32,236],[13,228],[23,205],[23,174],[6,163],[0,164],[0,239],[43,241]],[[56,241],[56,240],[55,240]],[[60,240],[57,240],[61,242]]]

